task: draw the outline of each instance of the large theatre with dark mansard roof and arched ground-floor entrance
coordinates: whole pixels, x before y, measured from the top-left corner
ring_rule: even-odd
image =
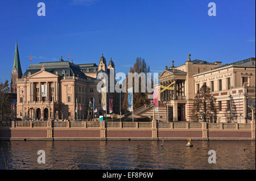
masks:
[[[17,85],[17,117],[23,119],[87,119],[89,100],[95,100],[97,117],[103,115],[101,93],[97,91],[97,74],[110,73],[114,62],[106,65],[101,56],[99,66],[96,64],[73,64],[61,57],[56,62],[31,64],[18,78]],[[107,93],[107,100],[114,99],[114,93]],[[93,101],[92,101],[93,102]],[[77,112],[76,112],[77,106]],[[108,106],[109,110],[109,106]],[[119,112],[119,110],[113,110]],[[24,114],[22,115],[22,113]]]

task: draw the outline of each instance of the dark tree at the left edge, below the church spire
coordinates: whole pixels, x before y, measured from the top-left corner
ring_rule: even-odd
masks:
[[[0,114],[9,115],[11,113],[11,96],[9,95],[9,83],[0,83]]]

